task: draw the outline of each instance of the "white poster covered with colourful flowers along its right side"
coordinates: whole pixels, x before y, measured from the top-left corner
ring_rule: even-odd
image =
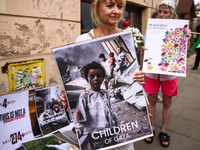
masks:
[[[188,20],[148,19],[143,71],[186,76]]]

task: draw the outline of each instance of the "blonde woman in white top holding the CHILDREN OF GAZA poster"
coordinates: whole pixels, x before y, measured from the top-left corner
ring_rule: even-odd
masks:
[[[123,20],[126,0],[94,0],[91,7],[92,21],[97,28],[80,35],[76,39],[76,42],[123,32],[116,25]],[[133,78],[135,81],[144,85],[144,73],[142,71],[135,72]],[[62,96],[61,99],[63,99]],[[133,150],[134,147],[131,143],[116,149]]]

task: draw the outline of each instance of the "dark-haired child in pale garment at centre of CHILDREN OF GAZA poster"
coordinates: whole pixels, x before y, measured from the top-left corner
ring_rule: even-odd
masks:
[[[92,137],[95,132],[97,137],[99,131],[117,126],[117,116],[111,106],[108,91],[100,88],[105,77],[105,69],[99,63],[92,62],[84,66],[83,71],[90,89],[80,94],[74,122],[79,137],[88,132]],[[93,138],[94,146],[96,148],[108,146],[104,142],[105,138],[109,137]],[[116,142],[110,143],[113,144]]]

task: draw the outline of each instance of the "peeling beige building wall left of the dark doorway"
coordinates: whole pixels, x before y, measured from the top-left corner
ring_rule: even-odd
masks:
[[[62,84],[51,48],[73,43],[80,28],[79,0],[1,0],[0,67],[42,58],[46,87]],[[8,74],[0,77],[0,95],[7,94]]]

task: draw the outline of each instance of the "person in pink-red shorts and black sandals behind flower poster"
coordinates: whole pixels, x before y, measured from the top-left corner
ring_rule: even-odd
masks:
[[[159,19],[177,19],[176,7],[178,0],[163,0],[159,5]],[[187,38],[191,37],[190,30],[187,29]],[[147,47],[148,48],[148,47]],[[178,96],[178,77],[165,74],[145,74],[145,92],[148,93],[149,111],[152,114],[152,129],[154,130],[154,119],[156,114],[156,102],[158,99],[159,88],[162,88],[163,94],[163,111],[162,111],[162,128],[159,133],[160,144],[163,147],[169,146],[170,136],[166,133],[166,128],[171,115],[172,97]],[[154,132],[155,133],[155,132]],[[155,136],[155,135],[154,135]],[[147,138],[147,143],[152,143],[153,138]]]

